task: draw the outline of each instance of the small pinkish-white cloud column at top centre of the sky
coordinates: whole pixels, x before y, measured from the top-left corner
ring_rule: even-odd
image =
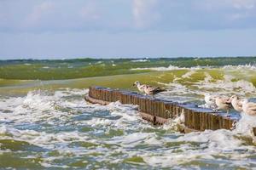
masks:
[[[157,0],[133,0],[132,14],[137,28],[146,28],[159,20],[156,5]]]

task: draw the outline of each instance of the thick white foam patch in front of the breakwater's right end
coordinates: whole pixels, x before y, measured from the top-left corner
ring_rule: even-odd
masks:
[[[228,130],[207,130],[202,133],[187,133],[177,139],[165,138],[164,143],[179,143],[177,150],[161,150],[158,153],[145,153],[143,160],[154,167],[175,167],[178,164],[189,163],[195,160],[216,160],[215,156],[232,157],[232,164],[247,166],[253,161],[241,161],[241,159],[250,156],[253,146],[245,146],[241,140],[236,139],[232,132]],[[175,145],[174,145],[175,146]],[[238,150],[244,150],[245,153],[239,155]],[[219,161],[222,161],[219,159]],[[234,165],[233,164],[233,165]]]

